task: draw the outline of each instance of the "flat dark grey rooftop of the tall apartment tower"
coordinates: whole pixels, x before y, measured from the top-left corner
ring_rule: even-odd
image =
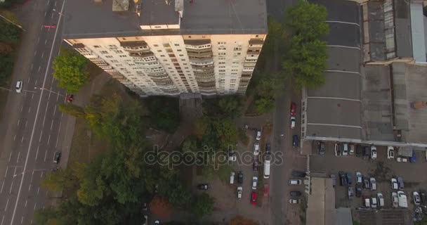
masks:
[[[181,13],[175,0],[130,1],[124,11],[113,11],[112,1],[66,1],[63,38],[267,33],[265,0],[188,0],[178,6]],[[179,29],[141,29],[178,20]]]

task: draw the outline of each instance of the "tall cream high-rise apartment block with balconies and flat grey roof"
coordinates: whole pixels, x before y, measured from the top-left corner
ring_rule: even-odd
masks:
[[[67,1],[63,38],[140,96],[244,94],[265,1]]]

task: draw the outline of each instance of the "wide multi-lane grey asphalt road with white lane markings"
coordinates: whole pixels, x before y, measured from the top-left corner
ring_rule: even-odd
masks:
[[[58,12],[63,7],[60,0],[34,0],[22,6],[28,11],[25,32],[1,118],[0,225],[32,224],[34,210],[44,207],[51,196],[39,183],[58,166],[53,154],[61,150],[64,139],[65,116],[57,103],[63,103],[65,92],[57,88],[50,70],[61,44]],[[19,94],[14,87],[18,80],[23,82]]]

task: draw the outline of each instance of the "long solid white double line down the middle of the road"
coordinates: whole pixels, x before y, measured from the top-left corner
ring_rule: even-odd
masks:
[[[61,21],[63,12],[64,12],[64,6],[65,6],[65,0],[63,1],[63,6],[61,7],[61,11],[59,14],[58,23],[57,23],[58,25],[60,25],[60,21]],[[44,85],[46,84],[46,77],[48,76],[48,68],[50,68],[50,66],[51,66],[51,58],[52,58],[52,53],[53,53],[53,47],[55,46],[55,41],[56,41],[56,37],[58,35],[58,30],[60,30],[59,27],[58,27],[58,29],[55,29],[55,35],[53,36],[53,41],[52,41],[52,46],[51,46],[51,53],[49,53],[48,64],[46,65],[46,72],[44,73],[43,86],[41,86],[41,88],[44,88]],[[28,149],[27,149],[27,157],[25,158],[25,164],[24,164],[23,171],[25,171],[27,169],[27,163],[28,163],[28,159],[29,159],[29,155],[30,155],[29,150],[31,150],[32,139],[34,136],[34,131],[36,129],[36,125],[37,125],[37,118],[39,117],[39,109],[40,109],[40,105],[41,105],[41,98],[43,98],[43,89],[41,89],[41,94],[39,97],[39,103],[37,104],[37,110],[36,110],[36,114],[35,114],[35,119],[34,119],[32,131],[31,131],[31,135],[29,138],[29,144],[28,144]],[[15,207],[13,207],[11,225],[13,225],[13,221],[15,219],[16,209],[18,208],[18,202],[20,199],[21,189],[22,189],[22,184],[24,183],[24,179],[25,179],[25,173],[22,174],[22,176],[21,176],[21,181],[20,181],[20,185],[18,188],[18,194],[16,195],[16,200],[15,200]],[[34,205],[34,210],[35,209],[36,209],[36,205]]]

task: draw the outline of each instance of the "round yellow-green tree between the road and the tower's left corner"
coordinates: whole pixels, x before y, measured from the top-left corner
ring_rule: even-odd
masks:
[[[87,66],[88,60],[84,56],[61,49],[60,55],[53,60],[53,77],[68,93],[76,93],[88,82]]]

